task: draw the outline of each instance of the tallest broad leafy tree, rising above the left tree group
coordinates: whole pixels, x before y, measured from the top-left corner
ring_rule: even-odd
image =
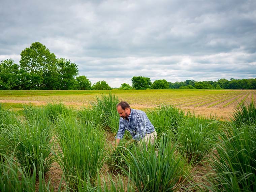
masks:
[[[56,56],[40,42],[21,52],[21,89],[56,89]]]

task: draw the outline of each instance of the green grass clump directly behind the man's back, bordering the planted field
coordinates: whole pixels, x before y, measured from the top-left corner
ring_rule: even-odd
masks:
[[[164,104],[149,110],[147,116],[154,125],[159,136],[167,130],[177,129],[177,127],[187,118],[187,115],[181,108]]]

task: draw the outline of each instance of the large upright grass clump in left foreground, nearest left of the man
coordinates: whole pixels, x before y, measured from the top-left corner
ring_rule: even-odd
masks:
[[[106,156],[103,133],[98,126],[78,122],[74,117],[58,120],[56,161],[71,189],[77,190],[81,180],[96,185],[97,172],[101,170]]]

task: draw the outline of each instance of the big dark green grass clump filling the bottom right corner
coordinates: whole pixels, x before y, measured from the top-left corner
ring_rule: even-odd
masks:
[[[253,125],[236,127],[228,123],[216,144],[217,154],[212,161],[215,173],[208,175],[212,191],[255,191],[256,128]]]

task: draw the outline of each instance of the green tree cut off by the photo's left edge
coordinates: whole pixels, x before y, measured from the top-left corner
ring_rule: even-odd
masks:
[[[19,89],[19,65],[12,59],[0,63],[0,89]]]

